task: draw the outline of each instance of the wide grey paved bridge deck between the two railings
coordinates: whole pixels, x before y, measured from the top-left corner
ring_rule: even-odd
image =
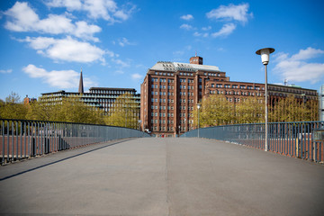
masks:
[[[123,139],[0,167],[0,213],[324,215],[324,166],[211,139]]]

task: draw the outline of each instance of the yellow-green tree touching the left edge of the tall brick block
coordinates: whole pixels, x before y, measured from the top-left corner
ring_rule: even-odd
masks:
[[[112,105],[112,111],[105,118],[105,123],[112,126],[120,126],[138,129],[139,127],[139,103],[131,94],[121,94]]]

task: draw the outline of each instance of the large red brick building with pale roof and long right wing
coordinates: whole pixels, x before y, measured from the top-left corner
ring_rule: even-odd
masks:
[[[297,94],[303,99],[317,98],[317,91],[284,85],[268,85],[269,100]],[[225,94],[230,102],[246,96],[265,96],[265,85],[229,81],[219,67],[202,65],[202,58],[190,64],[158,61],[148,69],[140,86],[141,130],[157,136],[176,136],[193,129],[193,109],[202,97]]]

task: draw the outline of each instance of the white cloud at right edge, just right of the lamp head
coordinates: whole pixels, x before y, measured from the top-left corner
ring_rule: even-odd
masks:
[[[315,58],[319,54],[324,54],[324,50],[313,48],[301,49],[292,57],[289,57],[286,53],[279,53],[275,56],[276,65],[274,71],[283,79],[295,82],[311,81],[311,83],[316,83],[322,80],[321,78],[324,76],[324,64],[308,63],[305,60]]]

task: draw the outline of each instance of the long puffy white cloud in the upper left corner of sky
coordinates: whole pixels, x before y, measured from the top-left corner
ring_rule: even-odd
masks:
[[[94,33],[102,31],[97,25],[85,22],[72,23],[65,15],[49,14],[45,19],[40,19],[27,3],[16,2],[4,14],[9,21],[4,27],[10,31],[36,31],[50,34],[68,34],[85,40],[98,41]]]

